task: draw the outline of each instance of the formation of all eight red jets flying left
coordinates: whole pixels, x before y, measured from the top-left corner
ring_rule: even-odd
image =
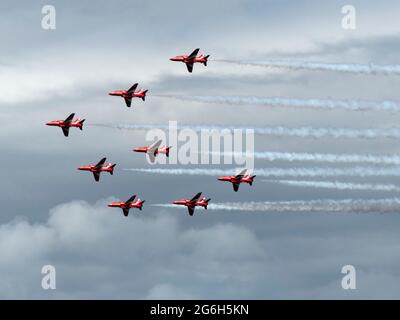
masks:
[[[176,56],[170,58],[170,60],[185,63],[188,72],[192,73],[193,66],[195,63],[200,63],[203,64],[204,66],[207,66],[208,58],[210,57],[210,55],[202,55],[202,54],[198,55],[199,51],[200,49],[197,48],[189,55]],[[128,90],[115,90],[109,92],[108,94],[110,96],[117,96],[124,98],[126,106],[130,108],[132,105],[132,99],[139,98],[142,99],[143,101],[145,101],[146,99],[146,94],[148,90],[144,89],[137,90],[137,87],[138,83],[135,83]],[[85,119],[80,119],[80,118],[74,119],[74,117],[75,113],[71,113],[65,120],[53,120],[47,122],[46,125],[60,127],[62,129],[64,136],[68,137],[70,128],[79,128],[80,130],[83,130],[83,123],[85,122]],[[157,140],[150,146],[137,147],[134,148],[132,151],[145,153],[148,156],[149,161],[153,163],[155,161],[155,157],[158,154],[165,154],[166,157],[169,157],[169,151],[170,148],[172,147],[161,146],[161,143],[162,140]],[[95,164],[80,166],[78,167],[78,170],[91,172],[93,174],[94,180],[96,182],[99,182],[100,174],[102,172],[108,172],[110,173],[110,175],[113,175],[114,173],[114,168],[116,164],[106,163],[106,160],[107,158],[102,158],[99,162]],[[237,175],[224,176],[224,177],[219,177],[217,179],[219,181],[227,181],[232,183],[233,190],[235,192],[238,192],[241,183],[247,183],[251,186],[253,184],[255,177],[256,177],[255,175],[248,174],[247,169],[244,169]],[[209,201],[211,200],[210,198],[206,197],[201,198],[201,195],[202,192],[198,192],[195,196],[193,196],[190,199],[175,200],[172,202],[172,204],[186,206],[189,215],[193,216],[196,207],[203,207],[205,210],[207,210],[207,206],[209,204]],[[145,202],[145,200],[141,199],[135,200],[135,199],[136,195],[133,195],[127,201],[112,202],[108,204],[108,207],[122,209],[124,216],[127,217],[129,215],[130,209],[136,208],[142,210],[143,208],[143,203]]]

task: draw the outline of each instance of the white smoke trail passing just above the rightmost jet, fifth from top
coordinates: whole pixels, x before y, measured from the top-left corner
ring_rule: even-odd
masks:
[[[162,168],[132,168],[124,169],[127,171],[143,172],[143,173],[156,173],[166,175],[204,175],[204,176],[219,176],[219,175],[233,175],[237,172],[235,169],[162,169]],[[329,167],[315,167],[315,168],[264,168],[256,169],[254,171],[259,177],[388,177],[400,176],[400,167],[350,167],[350,168],[329,168]]]

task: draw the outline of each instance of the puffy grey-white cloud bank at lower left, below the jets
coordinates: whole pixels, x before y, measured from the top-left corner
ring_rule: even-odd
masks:
[[[220,223],[185,230],[165,212],[142,217],[149,213],[132,211],[125,218],[106,203],[70,202],[53,208],[43,224],[3,224],[0,269],[6,275],[18,271],[19,276],[3,278],[2,297],[46,297],[40,282],[32,286],[42,263],[57,269],[53,297],[114,298],[107,291],[110,286],[123,288],[116,297],[205,298],[212,279],[221,285],[213,295],[222,297],[247,278],[241,270],[255,271],[264,260],[261,243],[245,227]],[[103,278],[105,274],[110,277]],[[208,284],[202,288],[204,280]]]

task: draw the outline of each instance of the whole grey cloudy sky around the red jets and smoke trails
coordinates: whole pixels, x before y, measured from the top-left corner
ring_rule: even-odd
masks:
[[[41,27],[42,7],[56,29]],[[390,129],[396,112],[348,111],[180,101],[156,95],[291,99],[400,100],[399,75],[270,69],[228,60],[394,65],[399,62],[397,1],[352,1],[355,30],[344,30],[346,1],[2,1],[0,4],[0,298],[398,298],[399,206],[385,210],[208,210],[154,204],[203,191],[214,203],[397,199],[387,190],[341,190],[271,180],[400,186],[397,174],[257,177],[238,193],[211,175],[127,171],[154,168],[133,147],[146,132],[91,124]],[[193,74],[168,58],[200,47],[208,67]],[[139,82],[146,102],[128,109],[107,92]],[[86,118],[65,138],[44,124],[71,112]],[[178,146],[175,146],[178,147]],[[256,135],[258,152],[395,155],[396,139]],[[80,165],[107,156],[114,176],[95,183]],[[386,164],[257,159],[257,170],[315,167],[353,170]],[[159,168],[168,169],[166,165]],[[170,168],[187,169],[174,165]],[[234,170],[232,165],[191,166]],[[325,170],[324,169],[324,170]],[[394,168],[396,169],[396,168]],[[368,189],[368,188],[367,188]],[[372,189],[372,188],[371,188]],[[109,201],[138,194],[128,218]],[[390,200],[392,199],[392,200]],[[357,289],[343,290],[353,265]],[[43,290],[53,265],[57,289]]]

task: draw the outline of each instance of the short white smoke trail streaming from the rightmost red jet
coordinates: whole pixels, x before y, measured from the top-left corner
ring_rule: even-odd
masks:
[[[309,181],[309,180],[264,180],[294,187],[310,187],[337,190],[370,190],[370,191],[400,191],[400,187],[393,184],[349,183],[339,181]]]

